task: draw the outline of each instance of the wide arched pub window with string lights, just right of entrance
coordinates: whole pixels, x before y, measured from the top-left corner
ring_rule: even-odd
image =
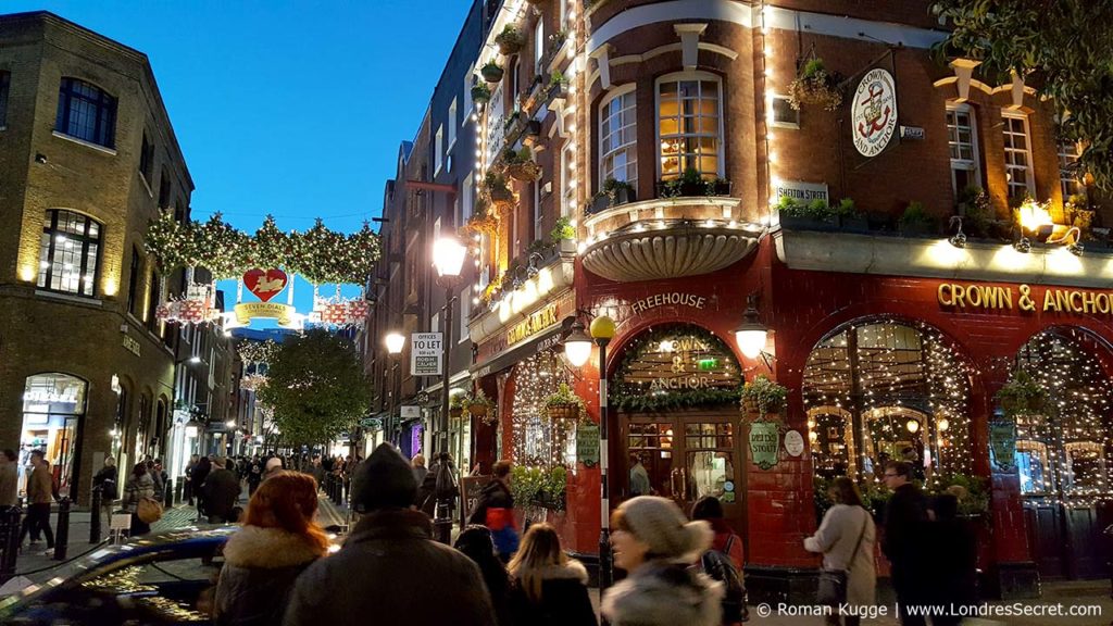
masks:
[[[879,475],[907,460],[916,475],[968,473],[969,376],[926,324],[851,322],[820,341],[804,371],[812,466],[820,480]]]

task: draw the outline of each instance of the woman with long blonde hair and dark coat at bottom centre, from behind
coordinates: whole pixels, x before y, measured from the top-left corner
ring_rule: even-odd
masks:
[[[597,626],[588,596],[588,570],[561,549],[560,536],[548,524],[525,531],[510,561],[510,610],[515,624]]]

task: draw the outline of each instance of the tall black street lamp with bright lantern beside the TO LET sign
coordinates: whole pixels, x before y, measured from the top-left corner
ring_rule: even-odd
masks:
[[[452,375],[452,305],[456,301],[456,286],[460,283],[460,272],[464,266],[467,248],[455,237],[441,237],[433,244],[433,266],[436,268],[436,283],[444,287],[444,364],[441,370],[441,414],[436,420],[435,444],[433,447],[437,459],[444,459],[449,452],[449,379]],[[443,461],[442,461],[443,462]],[[452,499],[446,493],[436,495],[436,513],[433,526],[436,539],[450,544],[452,536]]]

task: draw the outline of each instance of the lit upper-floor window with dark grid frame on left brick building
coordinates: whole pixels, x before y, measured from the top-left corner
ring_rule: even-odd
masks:
[[[100,255],[100,224],[72,211],[50,209],[39,243],[42,288],[95,295]]]

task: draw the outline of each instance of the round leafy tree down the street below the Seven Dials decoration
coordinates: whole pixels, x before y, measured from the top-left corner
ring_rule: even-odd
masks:
[[[333,440],[371,409],[371,382],[355,348],[325,331],[277,344],[258,393],[292,446]]]

